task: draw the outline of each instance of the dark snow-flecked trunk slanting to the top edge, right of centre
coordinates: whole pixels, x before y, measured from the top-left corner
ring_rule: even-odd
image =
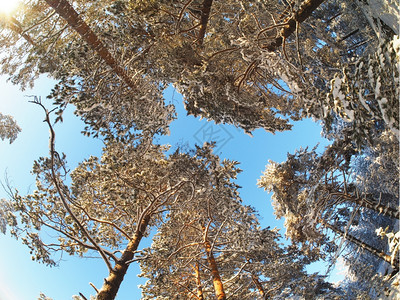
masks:
[[[285,25],[280,31],[279,37],[277,37],[275,41],[267,46],[264,46],[264,48],[270,52],[276,51],[282,45],[283,40],[288,38],[296,31],[297,23],[304,22],[323,2],[324,0],[304,1],[299,10],[292,17],[285,21],[287,25]]]

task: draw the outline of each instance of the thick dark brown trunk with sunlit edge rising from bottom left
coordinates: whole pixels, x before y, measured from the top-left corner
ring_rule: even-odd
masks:
[[[140,224],[138,224],[135,236],[128,243],[121,259],[115,264],[110,275],[104,279],[104,284],[97,294],[97,300],[112,300],[117,296],[119,286],[124,280],[124,276],[129,267],[129,261],[133,259],[135,251],[139,247],[139,243],[146,231],[150,221],[150,214],[146,215]]]

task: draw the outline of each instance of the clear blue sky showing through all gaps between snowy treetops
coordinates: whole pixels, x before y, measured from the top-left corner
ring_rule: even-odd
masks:
[[[29,98],[24,95],[42,96],[44,100],[51,86],[49,79],[41,78],[32,91],[21,92],[17,87],[6,83],[4,77],[0,77],[0,112],[13,115],[22,128],[13,144],[0,141],[0,179],[4,181],[7,172],[11,184],[22,194],[35,189],[34,177],[30,174],[33,161],[48,154],[48,128],[42,122],[43,111],[28,103]],[[243,172],[238,178],[238,184],[242,186],[241,196],[245,204],[258,210],[262,226],[282,228],[283,222],[275,220],[273,215],[269,195],[257,188],[257,179],[269,159],[281,162],[286,159],[288,152],[293,153],[299,147],[313,147],[318,142],[326,145],[327,142],[320,137],[320,126],[306,120],[295,123],[292,131],[273,135],[259,129],[250,137],[233,126],[215,125],[213,122],[186,116],[180,95],[172,89],[167,91],[165,98],[177,105],[178,119],[171,126],[171,135],[159,141],[174,147],[178,143],[193,146],[210,139],[217,140],[219,143],[216,151],[222,158],[241,163]],[[49,101],[45,103],[50,107]],[[80,134],[83,124],[71,111],[65,115],[64,123],[56,125],[55,130],[57,150],[67,154],[69,167],[73,169],[89,155],[99,155],[102,143]],[[2,189],[0,198],[6,198]],[[284,230],[281,233],[284,234]],[[140,298],[137,285],[143,281],[136,277],[139,272],[137,266],[130,267],[118,299]],[[71,299],[72,295],[79,292],[89,297],[94,294],[89,282],[101,287],[106,276],[104,263],[98,259],[64,255],[60,266],[53,268],[32,262],[26,246],[0,234],[1,300],[36,299],[40,292],[54,300]]]

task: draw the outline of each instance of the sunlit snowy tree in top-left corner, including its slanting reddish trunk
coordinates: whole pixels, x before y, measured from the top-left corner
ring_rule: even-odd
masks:
[[[140,55],[143,46],[136,42],[141,36],[131,32],[131,40],[121,41],[123,32],[119,35],[118,30],[129,30],[131,23],[111,13],[112,3],[75,3],[74,9],[85,15],[70,7],[64,20],[45,3],[29,2],[24,13],[14,17],[21,30],[10,30],[7,21],[2,24],[2,72],[22,88],[33,85],[40,74],[54,78],[58,83],[49,97],[60,107],[57,120],[72,103],[88,124],[88,134],[129,138],[133,128],[147,135],[166,133],[174,110],[164,104],[165,85],[143,76],[140,66],[132,69],[131,58]],[[90,26],[93,22],[96,26]]]

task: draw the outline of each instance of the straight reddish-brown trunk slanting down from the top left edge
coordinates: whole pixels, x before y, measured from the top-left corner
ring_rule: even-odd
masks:
[[[59,14],[68,25],[71,26],[89,46],[97,52],[97,54],[105,61],[105,63],[113,69],[113,71],[133,90],[136,87],[128,74],[117,63],[112,54],[103,45],[96,34],[90,29],[85,21],[79,16],[75,9],[68,3],[67,0],[46,0],[57,14]]]

